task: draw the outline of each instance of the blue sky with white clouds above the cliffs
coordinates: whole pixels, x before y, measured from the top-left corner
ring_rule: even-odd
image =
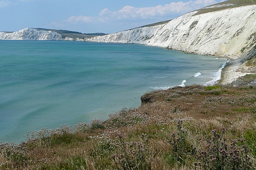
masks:
[[[111,34],[223,0],[0,0],[0,32],[48,28]]]

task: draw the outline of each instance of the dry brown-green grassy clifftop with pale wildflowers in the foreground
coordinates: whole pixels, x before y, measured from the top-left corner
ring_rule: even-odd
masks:
[[[193,85],[141,99],[137,109],[124,108],[104,122],[45,128],[22,144],[0,144],[0,169],[232,169],[231,159],[244,164],[235,169],[255,169],[256,87]],[[214,136],[225,141],[222,152],[213,149]],[[226,159],[217,156],[223,150]]]

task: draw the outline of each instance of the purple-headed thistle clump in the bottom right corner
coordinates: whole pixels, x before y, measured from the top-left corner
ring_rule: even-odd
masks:
[[[207,149],[200,150],[201,162],[196,163],[203,170],[249,170],[252,161],[249,156],[250,149],[244,144],[244,139],[233,139],[226,144],[223,138],[224,130],[219,134],[212,130],[212,140],[208,140]],[[241,145],[240,147],[238,145]]]

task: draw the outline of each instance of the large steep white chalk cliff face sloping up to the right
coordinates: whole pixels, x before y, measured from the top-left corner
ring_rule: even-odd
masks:
[[[140,43],[243,61],[256,51],[256,5],[241,6],[232,2],[235,0],[184,14],[164,24],[97,36],[87,41]]]

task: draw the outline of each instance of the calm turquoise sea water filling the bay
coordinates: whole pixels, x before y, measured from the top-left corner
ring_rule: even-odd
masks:
[[[147,91],[212,81],[225,61],[137,44],[2,40],[0,141],[107,119]]]

